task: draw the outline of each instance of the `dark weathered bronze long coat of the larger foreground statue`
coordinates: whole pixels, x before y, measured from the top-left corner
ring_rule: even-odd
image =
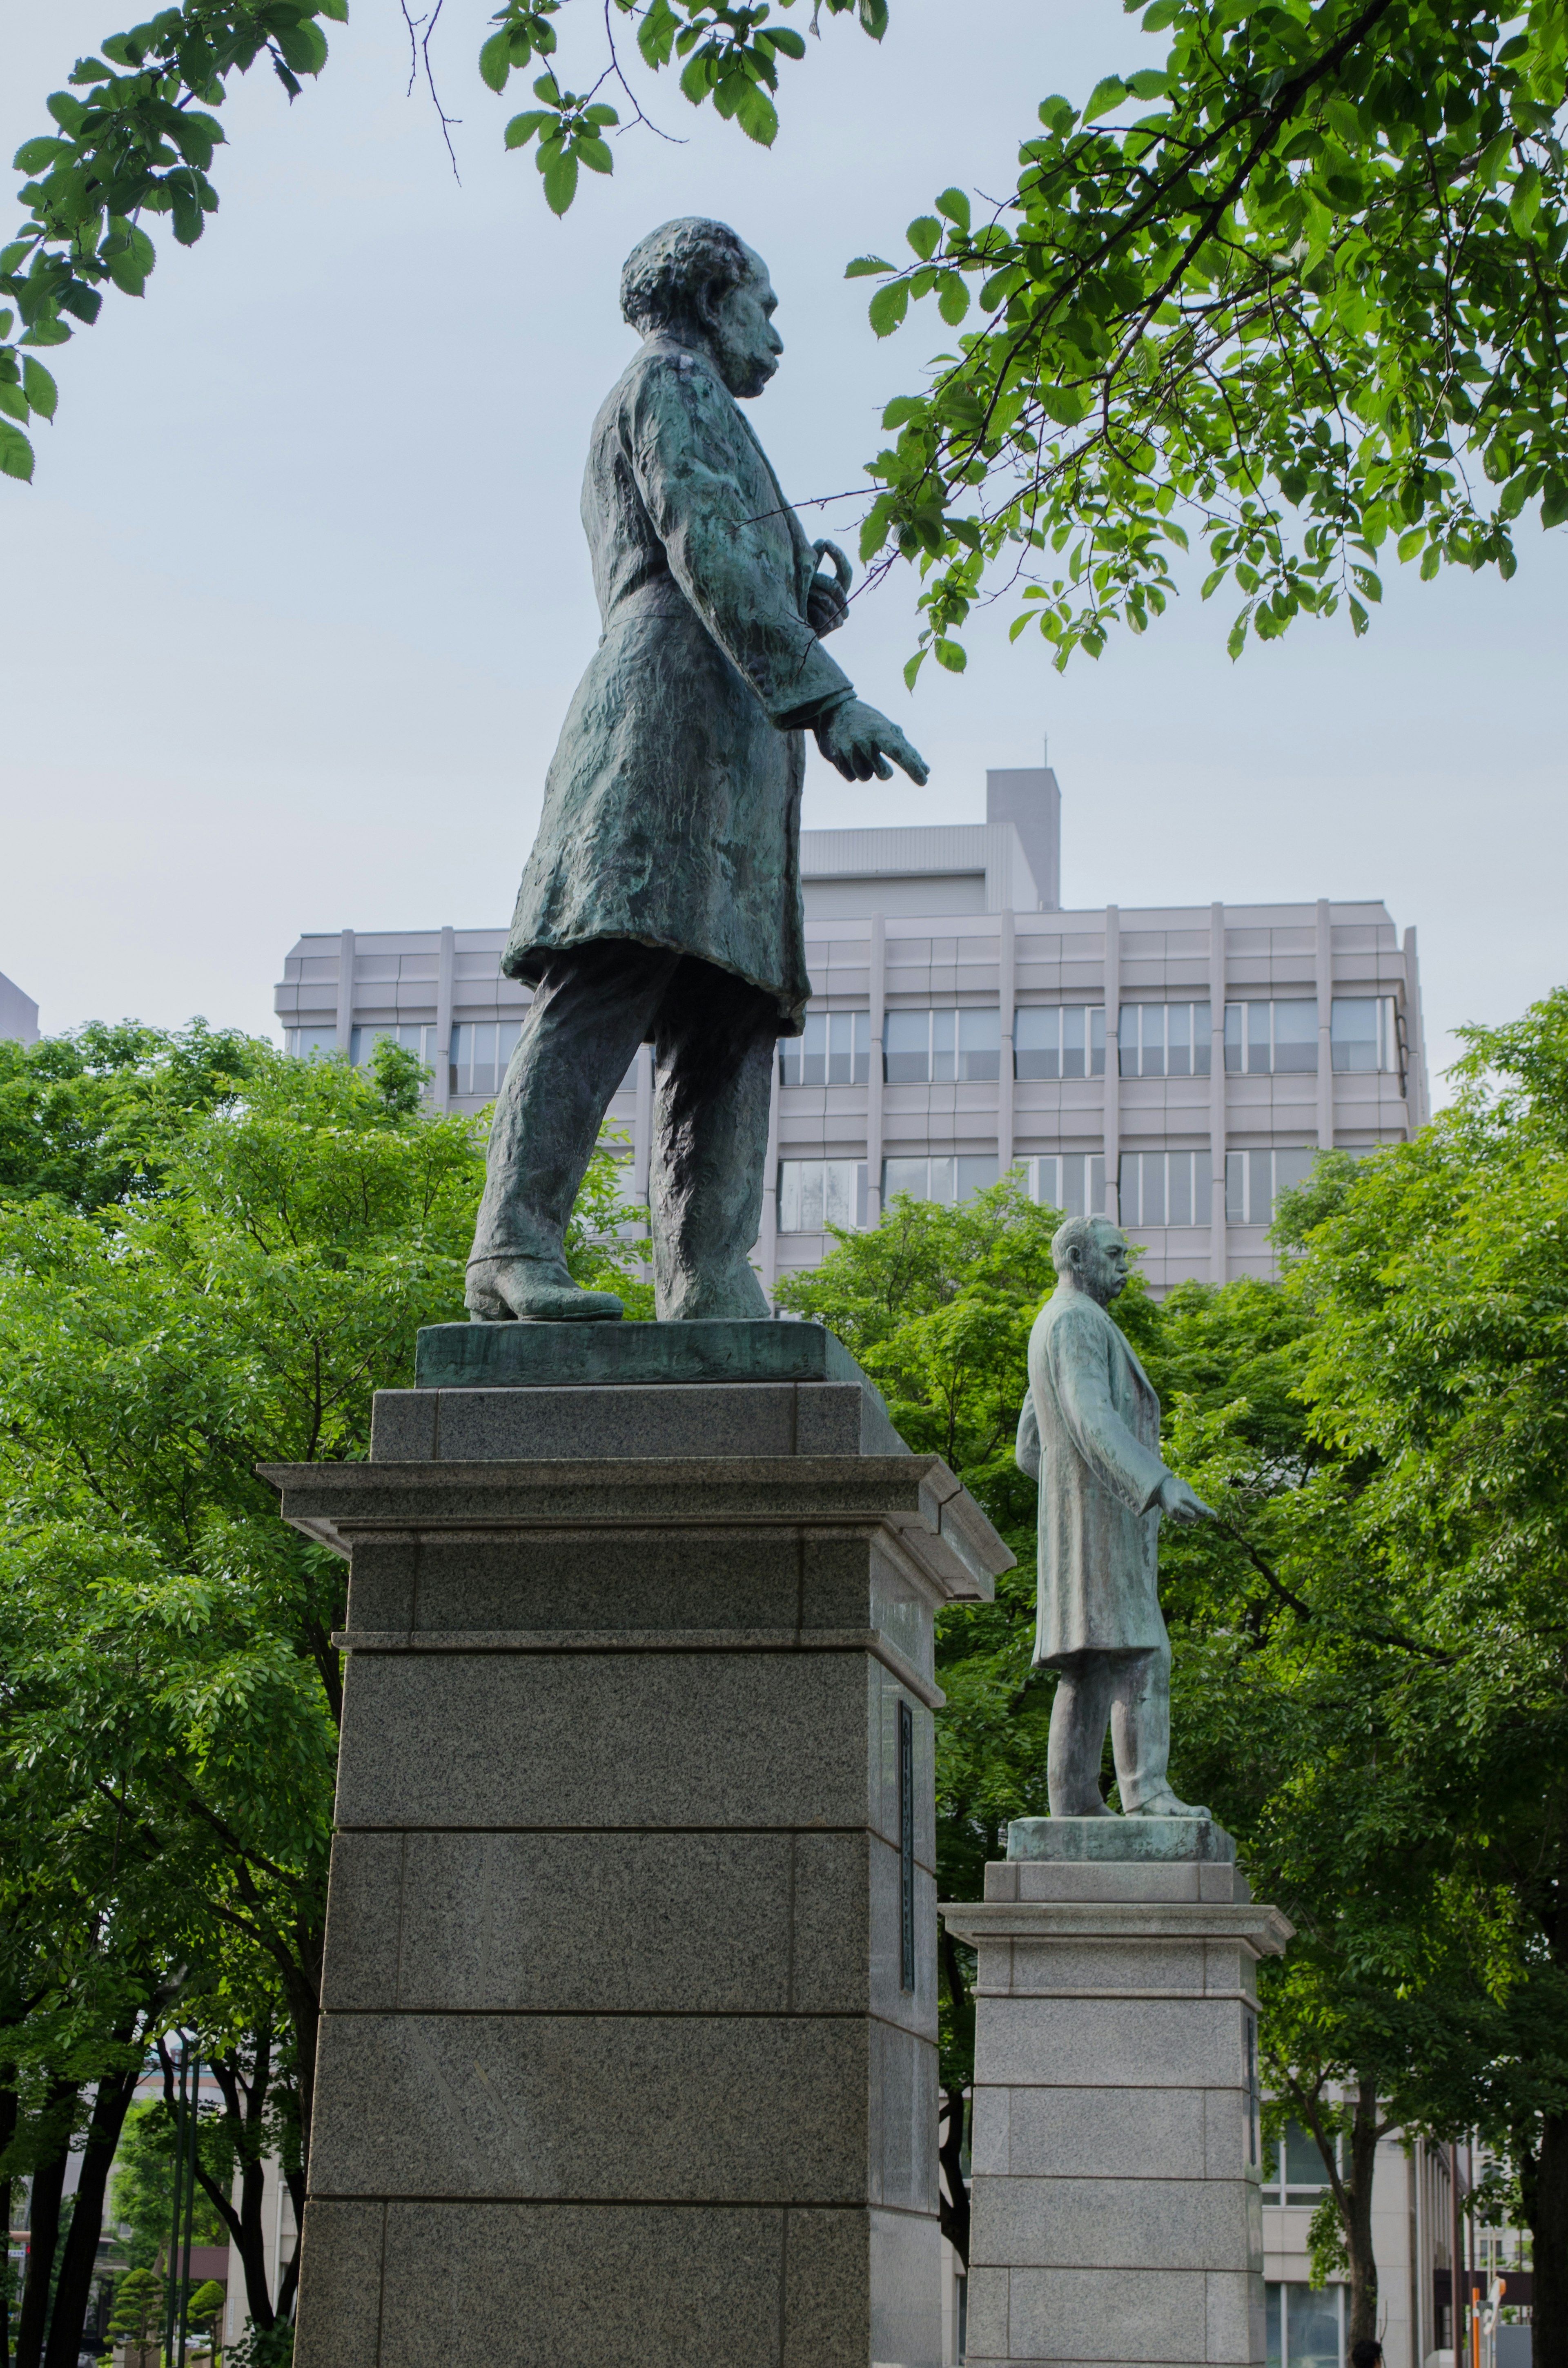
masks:
[[[604,637],[561,729],[502,971],[640,938],[810,995],[803,725],[850,682],[805,623],[817,554],[711,362],[649,339],[595,419],[583,526]]]

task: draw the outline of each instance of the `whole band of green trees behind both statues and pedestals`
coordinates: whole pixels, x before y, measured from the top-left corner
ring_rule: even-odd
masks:
[[[571,1260],[644,1312],[613,1153]],[[173,2027],[223,2098],[199,2226],[239,2250],[256,2342],[287,2347],[261,2179],[279,2160],[298,2200],[343,1568],[253,1466],[367,1452],[374,1388],[462,1307],[483,1125],[433,1113],[393,1044],[351,1070],[92,1028],[0,1044],[0,2183],[31,2179],[33,2226],[0,2356],[73,2363],[104,2205],[133,2273],[163,2276]],[[1056,1215],[1018,1172],[962,1208],[895,1198],[779,1293],[1018,1556],[940,1624],[945,1897],[1045,1809],[1054,1679],[1011,1440]],[[1317,1163],[1277,1212],[1279,1283],[1156,1302],[1135,1279],[1116,1310],[1170,1461],[1220,1511],[1163,1549],[1172,1776],[1296,1923],[1262,1968],[1265,2074],[1272,2131],[1322,2150],[1317,2269],[1369,2330],[1379,2136],[1478,2131],[1518,2181],[1544,2368],[1568,2323],[1566,1220],[1568,990],[1473,1032],[1414,1141]],[[943,1991],[964,2250],[973,2010],[950,1942]],[[163,2098],[137,2108],[149,2063]]]

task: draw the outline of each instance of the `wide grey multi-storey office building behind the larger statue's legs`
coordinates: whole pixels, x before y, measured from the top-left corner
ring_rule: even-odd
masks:
[[[1120,1215],[1156,1291],[1270,1274],[1274,1196],[1319,1148],[1428,1115],[1416,933],[1376,897],[1063,909],[1049,767],[990,772],[985,822],[805,831],[812,1004],[779,1044],[756,1262],[767,1288],[886,1198],[964,1198],[1014,1163]],[[519,855],[523,850],[519,848]],[[301,938],[291,1051],[393,1032],[443,1108],[495,1094],[528,992],[505,928]],[[647,1047],[611,1106],[647,1198]]]

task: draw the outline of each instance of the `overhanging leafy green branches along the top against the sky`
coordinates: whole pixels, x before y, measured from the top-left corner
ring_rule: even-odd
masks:
[[[822,7],[886,31],[886,0],[817,0],[810,31]],[[1388,552],[1424,580],[1506,578],[1521,516],[1568,519],[1563,0],[1130,14],[1080,109],[1042,92],[1018,123],[1000,199],[947,187],[907,225],[907,260],[848,265],[881,279],[879,336],[933,303],[947,348],[886,407],[893,440],[869,459],[862,559],[921,575],[910,680],[926,654],[962,668],[962,630],[997,599],[1059,665],[1099,656],[1116,623],[1163,611],[1194,545],[1203,597],[1241,594],[1239,654],[1341,606],[1364,632]],[[109,289],[144,294],[149,223],[201,237],[230,78],[270,66],[298,97],[327,64],[322,19],[346,17],[346,0],[185,0],[50,95],[0,251],[0,471],[31,476],[26,424],[54,417],[38,348]],[[550,208],[649,121],[632,73],[668,69],[692,104],[775,140],[779,66],[808,40],[765,0],[611,0],[602,19],[505,0],[481,47],[495,92],[540,69],[502,137],[533,152]]]

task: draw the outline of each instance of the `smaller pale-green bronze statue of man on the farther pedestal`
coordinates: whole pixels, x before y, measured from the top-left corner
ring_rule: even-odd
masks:
[[[1127,1816],[1208,1816],[1170,1790],[1170,1636],[1161,1615],[1161,1513],[1213,1518],[1161,1461],[1161,1402],[1106,1314],[1127,1283],[1127,1236],[1068,1217],[1059,1281],[1028,1338],[1018,1471],[1040,1482],[1035,1662],[1061,1669],[1052,1705],[1052,1816],[1111,1816],[1099,1759],[1111,1726]]]

